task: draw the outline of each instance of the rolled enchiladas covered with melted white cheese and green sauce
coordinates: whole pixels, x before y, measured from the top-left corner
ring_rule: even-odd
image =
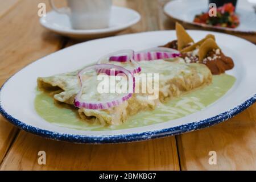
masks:
[[[123,67],[126,67],[123,63]],[[179,97],[185,92],[189,92],[200,86],[209,84],[212,81],[210,70],[203,64],[184,64],[180,61],[140,61],[143,73],[159,74],[159,97],[156,100],[148,100],[146,93],[134,93],[133,96],[122,104],[105,110],[79,109],[79,115],[85,121],[108,123],[109,125],[118,125],[125,122],[130,115],[134,115],[143,110],[154,110],[159,103],[163,103],[174,97]],[[61,89],[63,92],[55,94],[53,97],[59,102],[72,104],[76,94],[80,90],[77,73],[62,73],[60,75],[38,78],[38,86],[41,89]],[[98,94],[96,91],[97,80],[90,77],[86,80],[89,85],[84,92],[88,97],[111,97],[111,94]],[[138,82],[139,80],[137,80]],[[143,80],[141,80],[143,81]],[[142,85],[135,84],[135,85]]]

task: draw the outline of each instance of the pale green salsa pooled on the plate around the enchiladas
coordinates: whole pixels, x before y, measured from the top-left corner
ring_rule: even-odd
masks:
[[[61,127],[88,131],[129,129],[167,122],[200,111],[224,96],[235,81],[236,78],[230,75],[214,75],[212,84],[174,98],[159,105],[153,111],[141,111],[131,115],[121,125],[105,126],[83,121],[75,107],[60,104],[53,100],[51,94],[38,90],[36,91],[35,110],[46,121]]]

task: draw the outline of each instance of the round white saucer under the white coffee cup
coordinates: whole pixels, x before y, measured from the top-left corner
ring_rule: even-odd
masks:
[[[65,14],[50,11],[40,18],[42,26],[58,34],[71,38],[94,39],[114,35],[139,22],[141,15],[137,11],[125,7],[112,7],[110,26],[94,30],[75,30],[71,27],[69,18]]]

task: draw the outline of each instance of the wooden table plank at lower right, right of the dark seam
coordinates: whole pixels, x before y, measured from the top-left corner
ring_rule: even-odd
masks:
[[[219,125],[177,136],[182,170],[255,170],[256,105]],[[215,151],[217,164],[210,165]]]

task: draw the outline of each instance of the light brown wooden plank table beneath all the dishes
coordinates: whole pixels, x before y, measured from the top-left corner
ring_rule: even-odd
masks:
[[[38,3],[46,0],[0,0],[0,85],[25,65],[76,44],[39,24]],[[166,0],[115,0],[142,15],[122,32],[174,29],[163,14]],[[26,111],[26,110],[24,110]],[[72,144],[37,137],[17,129],[0,115],[1,170],[241,170],[256,169],[256,105],[224,123],[192,133],[127,144]],[[46,165],[38,152],[46,151]],[[210,165],[209,151],[217,152]]]

